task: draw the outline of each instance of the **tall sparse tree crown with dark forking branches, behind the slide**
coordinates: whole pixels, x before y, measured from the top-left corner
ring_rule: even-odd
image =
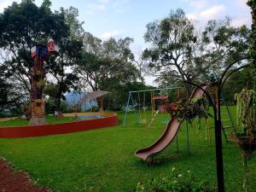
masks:
[[[177,81],[192,81],[207,67],[195,55],[202,46],[182,9],[171,11],[163,20],[148,23],[144,38],[152,47],[145,49],[143,56],[148,59],[149,67],[158,72],[159,81],[170,75]]]

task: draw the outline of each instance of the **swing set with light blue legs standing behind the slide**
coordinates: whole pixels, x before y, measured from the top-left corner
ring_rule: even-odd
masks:
[[[164,101],[165,99],[168,98],[168,96],[166,95],[156,96],[155,93],[160,91],[166,91],[166,90],[173,90],[173,91],[177,90],[177,101],[180,99],[180,96],[181,96],[180,87],[169,87],[169,88],[161,88],[161,89],[154,89],[154,90],[129,91],[128,101],[125,107],[125,119],[124,119],[123,125],[124,126],[126,125],[127,114],[129,110],[133,110],[135,119],[137,119],[137,123],[148,123],[148,127],[150,127],[154,119],[156,119],[158,113],[166,112],[165,103],[161,106],[158,106],[158,108],[156,108],[156,100]],[[148,97],[150,97],[150,104],[148,103],[148,100],[147,100]],[[150,109],[151,109],[150,118],[148,118],[147,116],[148,104],[150,105]],[[130,105],[131,105],[131,108],[130,108]]]

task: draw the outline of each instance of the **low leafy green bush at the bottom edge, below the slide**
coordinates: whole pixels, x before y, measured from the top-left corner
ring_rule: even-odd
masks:
[[[172,168],[172,176],[159,179],[152,178],[147,184],[137,183],[136,192],[212,192],[217,191],[212,184],[196,179],[188,171],[177,173]]]

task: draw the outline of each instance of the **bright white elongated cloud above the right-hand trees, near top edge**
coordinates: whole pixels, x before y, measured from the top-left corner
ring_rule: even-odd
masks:
[[[225,7],[223,4],[214,5],[210,9],[201,11],[199,14],[203,20],[214,20],[218,18],[218,15],[224,11]]]

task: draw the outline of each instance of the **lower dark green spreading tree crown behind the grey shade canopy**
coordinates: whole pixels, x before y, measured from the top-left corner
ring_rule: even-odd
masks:
[[[111,90],[118,84],[136,81],[137,68],[131,62],[84,53],[75,73],[91,90]]]

